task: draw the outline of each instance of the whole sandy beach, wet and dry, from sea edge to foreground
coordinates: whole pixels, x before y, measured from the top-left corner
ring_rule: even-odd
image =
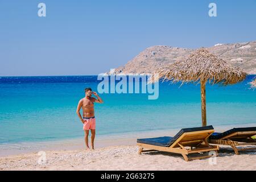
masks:
[[[246,125],[243,125],[246,126]],[[230,126],[216,127],[225,131]],[[23,150],[1,150],[0,170],[255,170],[256,150],[235,155],[221,146],[216,159],[185,162],[179,154],[145,152],[138,155],[136,139],[175,135],[178,130],[96,138],[96,149],[84,150],[83,139],[30,143]],[[135,137],[138,136],[138,137]],[[22,146],[22,145],[21,145]],[[26,146],[26,144],[23,144]],[[10,147],[10,146],[9,146]],[[249,146],[245,146],[249,147]],[[40,152],[43,151],[43,152]],[[40,154],[40,155],[39,155]],[[45,155],[44,155],[45,154]],[[45,158],[43,158],[45,156]],[[39,163],[39,159],[44,159]],[[216,163],[215,163],[216,162]]]

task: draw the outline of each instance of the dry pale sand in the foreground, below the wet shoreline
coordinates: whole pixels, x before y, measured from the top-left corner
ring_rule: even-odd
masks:
[[[185,162],[181,155],[146,152],[137,146],[112,146],[94,151],[47,151],[46,163],[38,163],[38,153],[0,158],[0,170],[255,170],[256,151],[221,150],[216,164],[209,159]]]

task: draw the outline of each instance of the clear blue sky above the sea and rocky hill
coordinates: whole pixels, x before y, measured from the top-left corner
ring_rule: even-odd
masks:
[[[150,46],[256,40],[256,1],[0,0],[0,22],[0,76],[97,75]]]

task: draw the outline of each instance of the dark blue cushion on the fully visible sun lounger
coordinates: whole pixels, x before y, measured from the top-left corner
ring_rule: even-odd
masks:
[[[154,146],[170,147],[172,143],[175,142],[181,135],[192,131],[202,131],[202,130],[213,130],[212,126],[204,127],[193,127],[187,129],[181,129],[174,137],[157,137],[157,138],[143,138],[137,139],[137,143],[152,144]]]

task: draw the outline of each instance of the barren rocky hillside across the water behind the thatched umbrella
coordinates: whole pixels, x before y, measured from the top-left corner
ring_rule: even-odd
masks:
[[[256,74],[256,41],[236,44],[216,44],[207,48],[214,55],[220,56],[234,67],[243,68],[248,74]],[[154,73],[157,68],[165,67],[188,56],[195,49],[171,46],[152,46],[115,69],[115,74]],[[109,74],[106,73],[106,74]]]

